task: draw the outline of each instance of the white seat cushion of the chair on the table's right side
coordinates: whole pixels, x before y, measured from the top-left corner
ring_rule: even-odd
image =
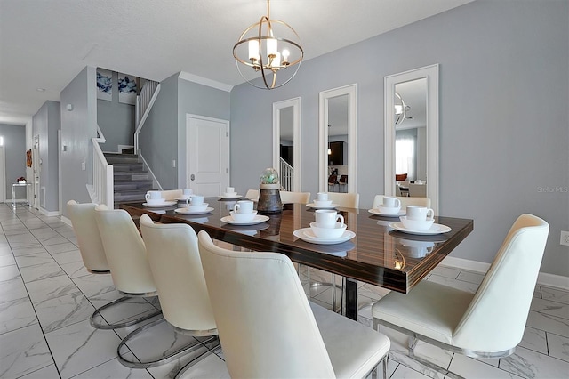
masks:
[[[423,280],[409,294],[390,292],[373,304],[372,316],[453,345],[453,331],[474,294]]]

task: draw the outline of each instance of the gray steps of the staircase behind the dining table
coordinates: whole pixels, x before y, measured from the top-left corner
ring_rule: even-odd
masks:
[[[113,192],[115,208],[121,203],[144,201],[152,180],[134,154],[104,153],[109,165],[113,165]]]

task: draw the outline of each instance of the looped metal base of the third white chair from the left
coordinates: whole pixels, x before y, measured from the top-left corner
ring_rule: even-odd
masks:
[[[158,359],[148,360],[148,361],[144,361],[144,362],[135,362],[135,361],[128,360],[128,359],[124,358],[124,355],[121,354],[121,350],[123,349],[123,346],[126,343],[131,341],[132,338],[134,338],[136,335],[140,335],[140,333],[148,330],[148,328],[155,327],[156,325],[161,324],[163,322],[166,322],[166,319],[164,319],[164,318],[163,319],[157,319],[155,321],[152,321],[151,323],[148,323],[146,325],[143,325],[142,327],[139,327],[138,329],[133,330],[126,337],[124,337],[123,341],[121,341],[121,343],[119,343],[118,347],[116,348],[116,355],[118,357],[118,361],[123,366],[131,367],[131,368],[156,367],[156,366],[160,366],[160,365],[164,365],[166,363],[172,362],[172,360],[180,358],[180,356],[182,354],[188,354],[192,351],[196,351],[197,349],[199,349],[200,347],[203,347],[207,343],[212,343],[216,340],[219,341],[219,338],[217,335],[217,329],[212,329],[211,331],[203,331],[203,334],[199,334],[199,335],[207,335],[209,338],[207,338],[206,340],[204,340],[202,342],[198,341],[196,343],[188,343],[184,346],[181,346],[177,350],[172,351],[171,353],[161,354],[160,358],[158,358]],[[212,333],[215,333],[215,335],[211,335]],[[128,351],[128,349],[127,349],[127,351]],[[209,354],[209,351],[211,351],[211,350],[206,351],[206,353]],[[196,361],[196,359],[192,360],[192,362],[195,362],[195,361]]]

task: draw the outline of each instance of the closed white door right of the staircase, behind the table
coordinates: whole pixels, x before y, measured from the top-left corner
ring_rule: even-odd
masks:
[[[188,115],[187,185],[204,197],[220,196],[229,185],[229,122]]]

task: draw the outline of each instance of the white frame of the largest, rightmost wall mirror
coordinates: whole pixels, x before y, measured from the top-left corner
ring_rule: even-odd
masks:
[[[395,196],[395,86],[427,78],[427,197],[438,214],[438,64],[384,78],[385,195]]]

